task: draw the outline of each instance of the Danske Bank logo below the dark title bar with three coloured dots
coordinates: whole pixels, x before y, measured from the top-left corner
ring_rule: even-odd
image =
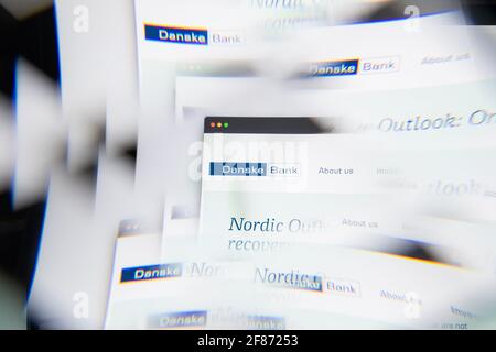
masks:
[[[300,176],[299,164],[211,162],[211,176]]]

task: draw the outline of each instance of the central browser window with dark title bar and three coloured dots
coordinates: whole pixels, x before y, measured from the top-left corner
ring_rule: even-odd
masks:
[[[259,238],[435,242],[407,233],[417,205],[492,200],[492,148],[416,150],[339,129],[338,119],[206,118],[200,240],[230,254],[263,250]]]

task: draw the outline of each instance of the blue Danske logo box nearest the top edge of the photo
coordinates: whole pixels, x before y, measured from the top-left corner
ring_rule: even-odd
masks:
[[[208,45],[208,31],[204,29],[186,29],[145,24],[144,37],[147,41]]]

